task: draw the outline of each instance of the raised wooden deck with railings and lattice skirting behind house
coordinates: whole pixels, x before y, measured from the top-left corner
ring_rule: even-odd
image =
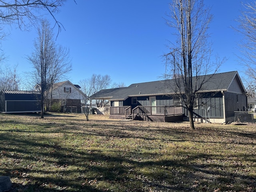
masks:
[[[131,119],[153,122],[177,122],[183,120],[182,106],[131,106],[110,107],[111,119]]]

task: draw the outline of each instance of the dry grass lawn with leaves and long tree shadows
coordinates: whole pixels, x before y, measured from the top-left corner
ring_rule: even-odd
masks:
[[[256,126],[0,114],[11,192],[256,190]]]

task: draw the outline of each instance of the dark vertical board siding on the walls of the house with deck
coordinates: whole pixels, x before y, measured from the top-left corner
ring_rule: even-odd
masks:
[[[225,102],[223,98],[225,99]],[[149,100],[149,96],[137,97],[137,104],[132,105],[132,98],[127,98],[124,101],[120,101],[119,106],[132,106],[132,109],[136,106],[150,106]],[[232,92],[224,92],[224,96],[222,92],[204,93],[201,95],[201,98],[199,98],[197,102],[198,107],[194,109],[194,118],[205,118],[207,115],[207,118],[210,117],[216,119],[224,119],[224,103],[226,118],[233,117],[234,111],[244,111],[247,107],[246,95]],[[156,106],[172,105],[172,96],[156,96]],[[209,106],[210,109],[206,112],[206,109]],[[188,110],[186,110],[186,108],[183,108],[183,114],[188,116]]]

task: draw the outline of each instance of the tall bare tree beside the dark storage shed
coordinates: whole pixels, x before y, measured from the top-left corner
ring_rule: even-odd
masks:
[[[57,46],[48,20],[42,20],[38,26],[38,37],[34,40],[34,51],[28,56],[33,65],[31,76],[40,85],[41,118],[44,118],[44,102],[52,85],[71,70],[68,50]]]

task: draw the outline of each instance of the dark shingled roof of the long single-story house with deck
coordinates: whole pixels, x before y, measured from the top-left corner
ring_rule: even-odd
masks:
[[[193,78],[193,82],[196,82],[196,78]],[[231,89],[232,82],[235,79],[240,90],[245,93],[246,91],[237,71],[200,76],[198,82],[204,82],[200,92],[228,91]],[[124,88],[100,90],[90,96],[90,98],[126,100],[128,97],[175,94],[175,85],[174,79],[136,83]],[[181,90],[181,92],[183,92],[183,90]]]

